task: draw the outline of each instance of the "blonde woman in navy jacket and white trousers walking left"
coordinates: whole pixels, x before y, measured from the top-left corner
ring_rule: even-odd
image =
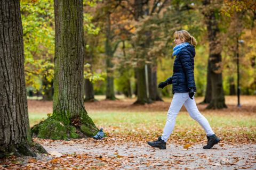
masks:
[[[162,137],[154,142],[148,142],[148,145],[160,149],[166,149],[166,141],[170,137],[175,125],[175,119],[184,104],[189,115],[196,120],[205,130],[207,136],[207,145],[204,149],[210,149],[219,143],[220,139],[214,134],[209,122],[198,111],[196,101],[193,98],[196,92],[194,79],[194,57],[196,39],[190,36],[188,31],[181,30],[174,32],[173,56],[176,56],[173,64],[173,75],[166,81],[158,84],[158,88],[172,84],[172,93],[174,94],[171,106],[167,113],[167,121],[164,127]]]

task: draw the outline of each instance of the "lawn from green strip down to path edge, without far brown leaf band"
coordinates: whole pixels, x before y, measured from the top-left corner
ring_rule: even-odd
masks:
[[[92,111],[89,116],[98,128],[102,127],[107,134],[143,135],[148,138],[161,135],[166,121],[165,112]],[[246,138],[247,142],[256,141],[255,115],[205,113],[204,116],[211,124],[213,131],[225,136],[227,140],[236,140],[235,136],[238,135],[239,138]],[[39,123],[43,117],[46,118],[47,115],[29,113],[30,126]],[[199,137],[204,137],[201,126],[187,112],[180,112],[173,135],[186,140],[198,134]],[[201,138],[195,141],[199,140]]]

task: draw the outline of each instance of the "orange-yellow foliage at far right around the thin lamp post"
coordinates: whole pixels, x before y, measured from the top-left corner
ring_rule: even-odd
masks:
[[[229,95],[235,95],[237,92],[237,60],[241,75],[239,86],[241,94],[250,95],[255,90],[256,77],[255,72],[255,49],[253,34],[255,34],[255,14],[256,2],[254,1],[229,1],[223,2],[221,8],[222,28],[226,28],[225,42],[223,43],[223,71],[224,88],[229,91]],[[244,43],[240,40],[243,39]],[[239,58],[237,58],[239,54]]]

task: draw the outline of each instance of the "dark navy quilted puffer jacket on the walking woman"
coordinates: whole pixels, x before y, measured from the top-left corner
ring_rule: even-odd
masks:
[[[194,78],[195,47],[188,45],[180,50],[173,64],[173,75],[166,81],[172,84],[172,93],[188,92],[189,88],[196,91]]]

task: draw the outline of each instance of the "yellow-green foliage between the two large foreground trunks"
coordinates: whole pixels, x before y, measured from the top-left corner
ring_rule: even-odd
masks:
[[[54,7],[51,0],[21,1],[26,85],[53,97]]]

